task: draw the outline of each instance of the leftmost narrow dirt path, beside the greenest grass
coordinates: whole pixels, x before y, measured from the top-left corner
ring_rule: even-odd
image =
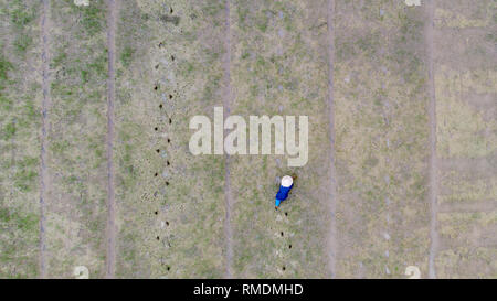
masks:
[[[50,106],[50,78],[49,78],[49,14],[50,1],[43,0],[43,11],[41,17],[41,40],[42,40],[42,90],[43,99],[41,104],[42,109],[42,128],[41,128],[41,150],[40,150],[40,255],[39,269],[40,278],[46,278],[45,267],[45,197],[46,197],[46,127],[47,127],[47,108]]]

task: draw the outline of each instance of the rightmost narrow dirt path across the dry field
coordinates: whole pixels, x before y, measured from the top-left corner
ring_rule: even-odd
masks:
[[[426,17],[427,22],[425,26],[425,44],[426,44],[426,60],[427,60],[427,71],[429,71],[429,80],[427,80],[427,89],[430,96],[430,106],[429,106],[429,117],[430,117],[430,208],[431,208],[431,221],[430,221],[430,257],[429,257],[429,277],[436,278],[435,270],[435,257],[438,248],[438,234],[436,232],[437,221],[436,215],[438,212],[438,204],[436,202],[436,196],[438,195],[438,186],[437,186],[437,159],[436,159],[436,103],[435,103],[435,82],[433,74],[433,13],[434,13],[434,3],[433,1],[426,1]]]

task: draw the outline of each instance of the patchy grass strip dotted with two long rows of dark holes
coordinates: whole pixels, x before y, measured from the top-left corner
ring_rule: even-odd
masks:
[[[219,99],[223,2],[169,6],[130,1],[118,21],[116,273],[221,278],[224,162],[190,154],[188,122]]]

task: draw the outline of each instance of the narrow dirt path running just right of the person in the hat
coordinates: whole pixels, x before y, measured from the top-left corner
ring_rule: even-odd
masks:
[[[328,1],[328,108],[329,108],[329,202],[328,211],[331,216],[330,229],[328,236],[327,252],[329,255],[329,273],[336,278],[336,257],[337,257],[337,225],[336,225],[336,195],[337,182],[335,170],[335,100],[334,100],[334,61],[335,61],[335,29],[334,29],[335,0]]]

